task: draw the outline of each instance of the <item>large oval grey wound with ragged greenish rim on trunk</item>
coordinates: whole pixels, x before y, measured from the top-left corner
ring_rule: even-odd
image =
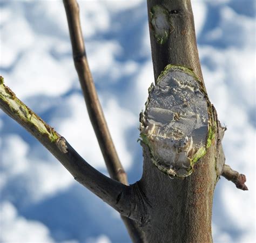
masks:
[[[159,170],[178,177],[192,173],[212,139],[207,104],[196,75],[184,67],[167,66],[151,86],[140,132]]]

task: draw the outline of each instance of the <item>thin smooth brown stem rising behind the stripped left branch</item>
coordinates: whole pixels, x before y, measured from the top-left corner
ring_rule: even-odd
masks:
[[[116,149],[107,128],[106,120],[100,106],[97,91],[93,83],[89,64],[85,53],[83,34],[79,19],[79,6],[76,0],[63,0],[66,17],[69,24],[70,39],[73,50],[73,60],[78,73],[80,85],[84,93],[84,99],[91,124],[102,151],[107,170],[112,179],[127,185],[127,177],[122,164],[119,161]],[[99,60],[100,62],[100,60]]]

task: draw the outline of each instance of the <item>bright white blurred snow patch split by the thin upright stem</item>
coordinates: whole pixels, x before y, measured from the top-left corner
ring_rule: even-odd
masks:
[[[102,104],[107,125],[109,126],[120,160],[124,167],[129,168],[132,157],[125,145],[125,131],[131,126],[135,126],[137,119],[134,118],[132,113],[120,107],[116,100],[109,98],[104,100]],[[80,95],[70,96],[60,109],[65,109],[69,116],[66,118],[55,117],[51,124],[89,164],[94,167],[105,168],[102,153],[86,112],[83,97]]]

